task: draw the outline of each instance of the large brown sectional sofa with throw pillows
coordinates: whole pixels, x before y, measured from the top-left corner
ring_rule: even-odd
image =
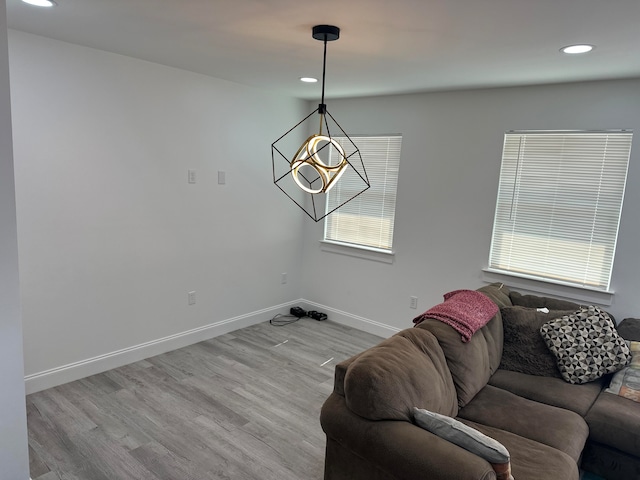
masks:
[[[578,307],[501,284],[479,291],[499,307]],[[625,320],[623,337],[625,329],[640,340],[638,322]],[[503,335],[500,312],[468,343],[428,319],[338,364],[320,417],[325,479],[496,478],[486,460],[418,427],[413,407],[501,442],[515,480],[578,480],[579,466],[607,480],[640,479],[640,403],[604,392],[606,377],[573,385],[501,369]]]

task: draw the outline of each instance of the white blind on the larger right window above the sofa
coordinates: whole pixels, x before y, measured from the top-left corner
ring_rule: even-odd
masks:
[[[489,269],[607,291],[632,132],[506,133]]]

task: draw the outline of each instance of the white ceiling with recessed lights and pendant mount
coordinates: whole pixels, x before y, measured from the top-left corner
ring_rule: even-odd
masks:
[[[9,28],[307,99],[316,24],[342,30],[327,98],[640,77],[640,0],[6,1]]]

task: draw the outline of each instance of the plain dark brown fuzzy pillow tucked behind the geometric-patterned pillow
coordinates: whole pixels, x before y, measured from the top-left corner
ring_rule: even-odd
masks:
[[[540,327],[552,319],[569,315],[575,310],[538,311],[528,307],[503,307],[502,327],[504,348],[500,368],[514,372],[562,378],[556,357],[540,335]]]

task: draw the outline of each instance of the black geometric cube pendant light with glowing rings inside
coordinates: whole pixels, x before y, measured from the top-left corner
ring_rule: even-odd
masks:
[[[340,29],[333,25],[316,25],[312,36],[324,42],[322,100],[317,109],[271,144],[271,162],[273,183],[318,222],[367,190],[370,184],[360,150],[324,103],[327,42],[340,38]],[[316,113],[320,116],[320,126],[313,129],[309,121]],[[295,148],[292,142],[309,131],[318,133],[313,133]],[[341,179],[344,181],[339,182]],[[345,187],[337,187],[339,183]],[[327,194],[333,188],[340,188],[340,192],[329,209]]]

